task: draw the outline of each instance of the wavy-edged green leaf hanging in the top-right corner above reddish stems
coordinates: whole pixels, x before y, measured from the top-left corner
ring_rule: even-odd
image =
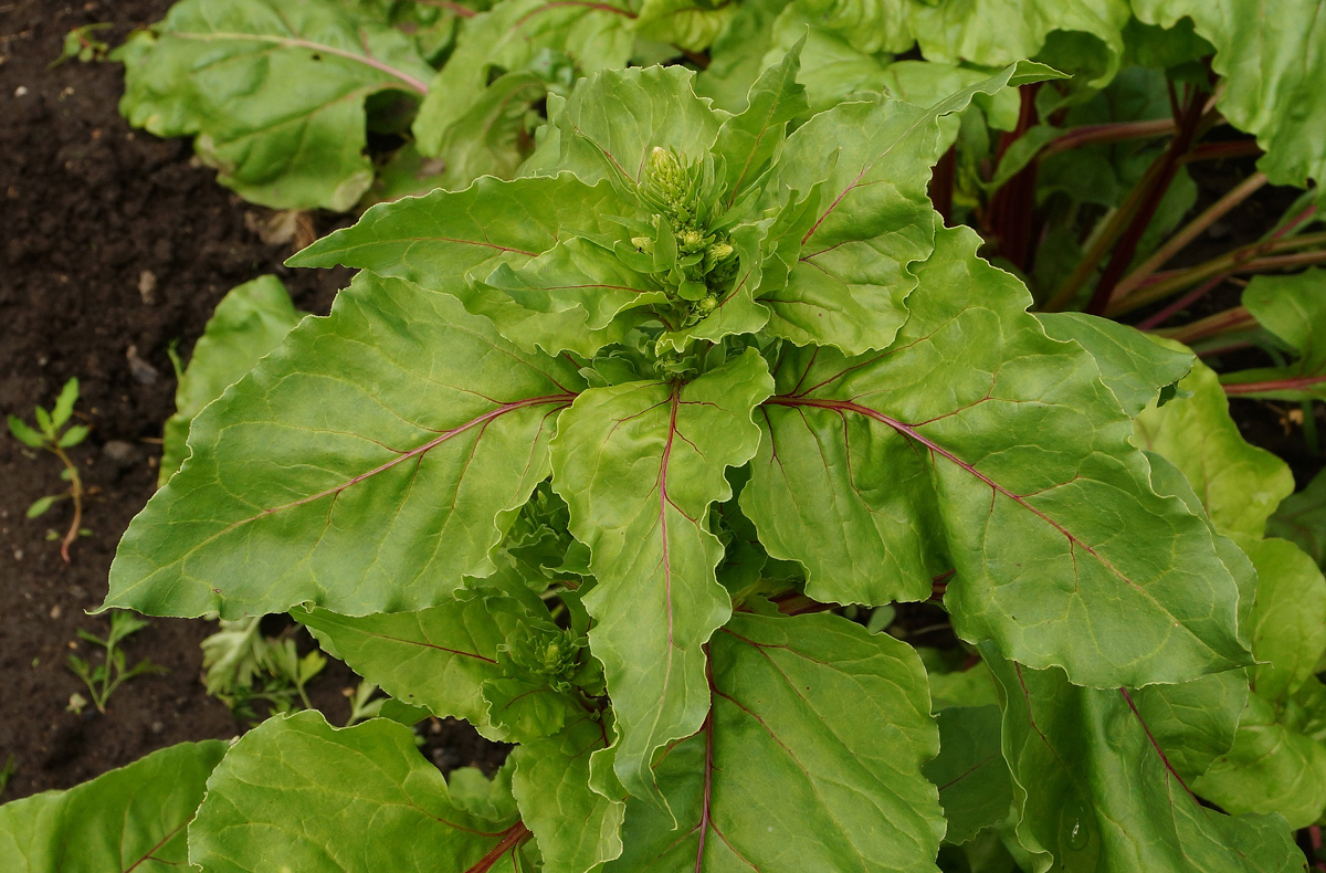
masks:
[[[1148,24],[1189,16],[1216,46],[1221,114],[1256,134],[1257,162],[1274,184],[1306,187],[1326,178],[1326,17],[1305,0],[1132,0]]]

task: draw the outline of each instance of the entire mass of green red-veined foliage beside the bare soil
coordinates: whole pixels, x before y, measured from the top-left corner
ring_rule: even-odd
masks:
[[[450,162],[292,260],[361,272],[236,332],[106,598],[289,610],[391,699],[24,803],[191,755],[115,862],[208,873],[1305,869],[1322,488],[1228,397],[1326,397],[1317,191],[1170,263],[1319,178],[1315,7],[424,5],[186,0],[122,53],[260,202],[347,208],[365,123]],[[444,779],[427,715],[511,758]]]

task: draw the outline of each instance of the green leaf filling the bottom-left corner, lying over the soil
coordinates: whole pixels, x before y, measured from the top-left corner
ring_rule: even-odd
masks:
[[[223,740],[180,743],[69,791],[0,807],[11,873],[184,868],[184,825],[203,800]],[[155,864],[151,864],[155,861]]]

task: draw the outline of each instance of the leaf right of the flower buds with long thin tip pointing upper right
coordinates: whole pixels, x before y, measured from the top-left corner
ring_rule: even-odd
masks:
[[[930,109],[900,101],[842,103],[788,138],[770,191],[806,195],[821,187],[818,214],[797,228],[800,255],[786,288],[757,293],[773,310],[768,330],[798,345],[846,354],[882,349],[906,321],[903,300],[916,287],[910,264],[935,244],[927,195],[939,159],[939,119],[977,93],[1053,77],[1017,64]]]

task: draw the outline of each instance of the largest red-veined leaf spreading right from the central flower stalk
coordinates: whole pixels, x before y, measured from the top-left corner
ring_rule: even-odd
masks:
[[[924,600],[956,569],[959,634],[1079,685],[1248,663],[1205,520],[1152,490],[1095,362],[977,244],[939,234],[884,352],[784,350],[741,495],[761,543],[815,600]]]

